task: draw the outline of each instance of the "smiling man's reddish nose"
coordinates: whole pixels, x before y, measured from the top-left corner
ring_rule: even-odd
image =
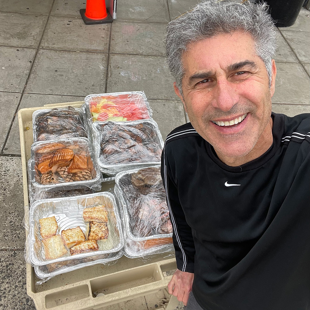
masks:
[[[239,95],[234,86],[226,79],[218,80],[214,89],[212,105],[228,112],[239,101]]]

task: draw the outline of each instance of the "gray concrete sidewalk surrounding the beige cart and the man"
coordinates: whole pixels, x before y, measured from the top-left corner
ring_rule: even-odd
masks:
[[[0,309],[35,309],[26,294],[24,201],[16,113],[43,104],[82,101],[88,94],[142,90],[163,138],[186,122],[165,62],[168,21],[196,0],[117,0],[117,20],[86,26],[85,0],[0,2]],[[274,112],[310,112],[310,18],[302,9],[277,29]],[[101,310],[151,310],[153,294]]]

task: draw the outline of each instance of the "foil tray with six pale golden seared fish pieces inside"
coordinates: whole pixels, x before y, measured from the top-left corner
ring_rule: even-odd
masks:
[[[124,244],[116,201],[108,192],[37,200],[30,207],[29,226],[35,266],[72,265],[87,258],[110,261]]]

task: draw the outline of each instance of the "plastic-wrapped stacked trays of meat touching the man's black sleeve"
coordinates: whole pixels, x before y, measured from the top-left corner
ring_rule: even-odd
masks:
[[[120,172],[115,184],[125,219],[125,255],[134,258],[172,251],[172,225],[160,168]]]

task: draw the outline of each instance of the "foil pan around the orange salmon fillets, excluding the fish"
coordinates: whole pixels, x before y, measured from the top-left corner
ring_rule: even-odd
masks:
[[[80,149],[88,153],[91,157],[93,166],[94,166],[94,178],[91,180],[85,181],[74,181],[74,182],[65,182],[65,183],[56,183],[56,184],[41,184],[38,182],[39,179],[39,172],[35,168],[35,152],[44,147],[48,144],[52,143],[62,143],[65,146],[73,146],[78,145]],[[33,143],[31,146],[31,182],[33,187],[36,190],[44,190],[44,191],[58,191],[58,190],[69,190],[69,189],[77,189],[77,188],[92,188],[95,190],[100,190],[101,182],[102,182],[102,175],[98,166],[97,161],[95,160],[95,155],[91,146],[91,142],[87,138],[74,138],[68,140],[59,140],[59,141],[38,141]]]

